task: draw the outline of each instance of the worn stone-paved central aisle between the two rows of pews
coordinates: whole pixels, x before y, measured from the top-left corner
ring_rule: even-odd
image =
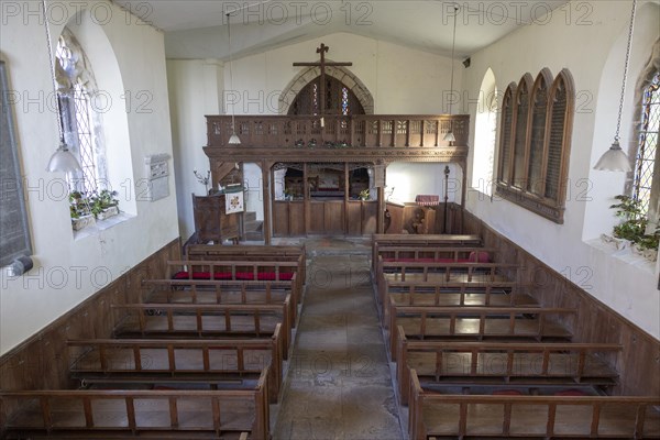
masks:
[[[274,439],[403,439],[370,277],[371,248],[307,249],[308,287]]]

